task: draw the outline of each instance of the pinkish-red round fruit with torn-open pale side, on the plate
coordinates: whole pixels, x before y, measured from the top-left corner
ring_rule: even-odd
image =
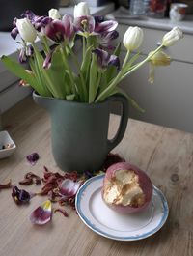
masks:
[[[152,182],[138,167],[127,162],[111,165],[102,187],[103,201],[119,213],[139,213],[152,198]]]

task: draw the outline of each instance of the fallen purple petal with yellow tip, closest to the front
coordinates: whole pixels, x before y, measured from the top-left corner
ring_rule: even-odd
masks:
[[[51,201],[46,200],[30,215],[30,220],[33,224],[44,225],[51,220],[52,210]]]

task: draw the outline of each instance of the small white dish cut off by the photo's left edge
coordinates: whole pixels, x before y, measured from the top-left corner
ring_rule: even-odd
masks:
[[[0,145],[7,145],[7,144],[12,144],[13,147],[9,149],[0,149],[0,159],[11,156],[16,149],[14,140],[11,138],[8,131],[7,130],[0,131]]]

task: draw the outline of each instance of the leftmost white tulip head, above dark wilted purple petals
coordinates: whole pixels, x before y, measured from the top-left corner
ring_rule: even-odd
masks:
[[[20,18],[16,20],[16,27],[21,38],[25,42],[33,43],[37,38],[37,31],[33,27],[32,23],[28,18]]]

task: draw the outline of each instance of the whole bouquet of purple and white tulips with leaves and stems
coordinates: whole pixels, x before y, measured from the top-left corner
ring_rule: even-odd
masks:
[[[123,39],[126,54],[121,63],[121,43],[113,45],[119,35],[117,26],[115,20],[93,17],[85,2],[74,7],[73,16],[65,14],[61,17],[55,9],[51,9],[48,16],[26,11],[21,18],[14,18],[11,35],[15,40],[19,34],[19,61],[28,61],[30,70],[7,56],[2,56],[1,60],[8,70],[22,79],[21,84],[32,86],[41,96],[92,103],[123,94],[139,107],[119,83],[147,62],[152,68],[169,65],[170,56],[162,48],[179,41],[182,32],[178,27],[172,29],[163,37],[161,45],[139,62],[137,50],[143,42],[143,30],[128,27]],[[42,50],[35,43],[38,40]],[[82,43],[81,62],[74,52],[78,40]],[[130,56],[133,52],[135,54]]]

